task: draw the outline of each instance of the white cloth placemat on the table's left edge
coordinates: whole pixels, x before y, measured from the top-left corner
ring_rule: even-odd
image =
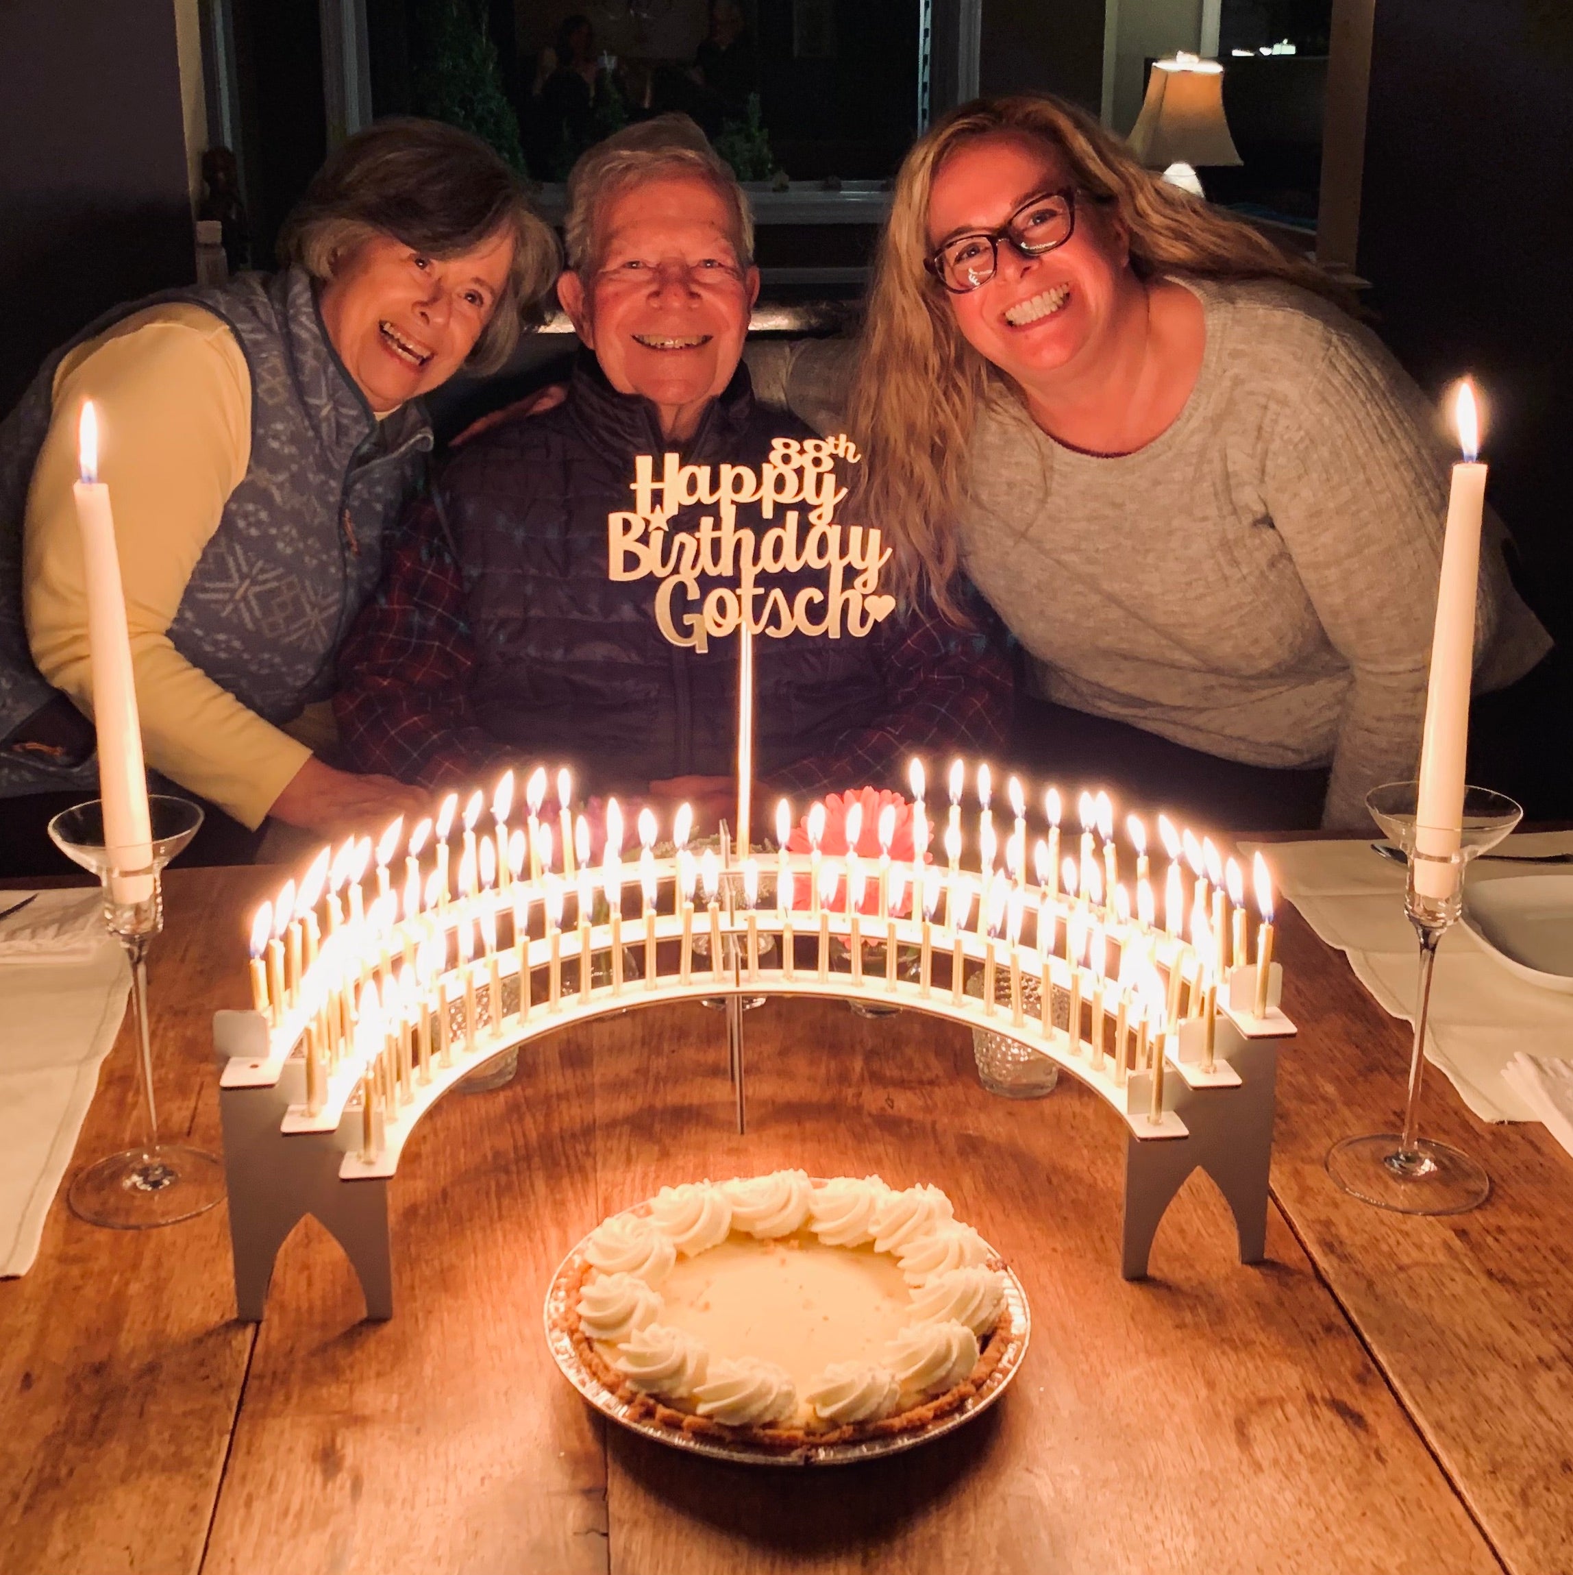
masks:
[[[0,893],[0,907],[22,896]],[[131,969],[101,902],[98,890],[39,891],[0,920],[0,1276],[25,1274],[38,1257],[126,1014]]]

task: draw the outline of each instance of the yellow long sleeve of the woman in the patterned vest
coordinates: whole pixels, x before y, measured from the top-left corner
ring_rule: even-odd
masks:
[[[260,825],[310,756],[170,643],[197,559],[250,463],[252,384],[230,329],[197,306],[137,312],[77,346],[55,373],[54,421],[27,499],[24,586],[39,673],[91,715],[87,584],[71,484],[82,402],[99,411],[99,479],[115,540],[148,764]],[[291,723],[302,737],[321,710]]]

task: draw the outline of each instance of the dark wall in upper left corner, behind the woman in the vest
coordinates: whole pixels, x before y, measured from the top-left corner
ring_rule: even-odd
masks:
[[[170,0],[3,0],[0,411],[90,318],[194,269]]]

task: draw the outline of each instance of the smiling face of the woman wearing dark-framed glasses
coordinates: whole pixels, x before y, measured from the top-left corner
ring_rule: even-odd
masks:
[[[929,246],[1003,228],[1030,198],[1075,184],[1064,154],[1036,137],[998,132],[965,142],[934,176]],[[1121,309],[1140,296],[1123,225],[1080,194],[1069,241],[1041,257],[1001,241],[998,258],[987,284],[945,299],[967,342],[1027,389],[1096,359]]]

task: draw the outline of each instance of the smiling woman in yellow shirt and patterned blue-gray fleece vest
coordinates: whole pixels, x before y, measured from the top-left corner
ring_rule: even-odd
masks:
[[[110,312],[44,362],[0,427],[0,797],[13,852],[30,806],[39,819],[96,780],[71,498],[88,398],[148,764],[247,827],[274,816],[332,832],[416,802],[313,753],[331,729],[318,702],[431,447],[420,395],[460,367],[507,359],[537,320],[556,243],[491,150],[406,120],[328,162],[280,258],[271,277]]]

